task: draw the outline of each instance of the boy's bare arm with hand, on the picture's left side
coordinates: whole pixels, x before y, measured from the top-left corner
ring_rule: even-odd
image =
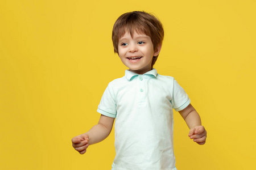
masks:
[[[110,134],[114,118],[101,114],[97,125],[84,134],[72,138],[72,146],[80,154],[84,154],[89,145],[103,141]]]

